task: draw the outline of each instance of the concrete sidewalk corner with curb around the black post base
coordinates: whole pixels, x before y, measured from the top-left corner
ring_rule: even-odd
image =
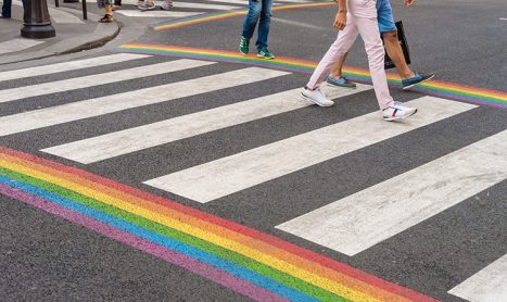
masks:
[[[88,2],[88,8],[91,9],[91,12],[88,12],[88,20],[83,20],[80,3],[62,2],[60,1],[60,8],[55,8],[53,1],[48,3],[56,37],[26,39],[21,36],[23,27],[21,1],[13,1],[12,17],[0,18],[0,65],[100,47],[118,34],[117,23],[98,23],[101,15],[98,14],[99,10],[94,1]]]

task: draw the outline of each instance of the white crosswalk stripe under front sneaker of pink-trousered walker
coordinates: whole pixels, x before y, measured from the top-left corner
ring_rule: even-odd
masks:
[[[379,112],[369,113],[145,184],[205,203],[476,108],[432,97],[407,104],[422,113],[390,125]]]

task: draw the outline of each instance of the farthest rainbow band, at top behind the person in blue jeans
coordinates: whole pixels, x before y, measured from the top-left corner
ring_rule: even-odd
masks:
[[[280,7],[274,7],[272,11],[276,12],[276,11],[283,11],[283,10],[321,8],[321,7],[330,7],[330,5],[335,5],[335,2],[326,1],[326,2],[316,2],[316,3],[280,5]],[[200,23],[206,23],[206,22],[212,22],[212,21],[217,21],[217,20],[224,20],[224,18],[235,17],[235,16],[245,15],[246,12],[248,10],[241,9],[241,10],[235,10],[235,11],[228,11],[228,12],[217,12],[217,13],[201,14],[201,15],[195,15],[195,16],[190,16],[190,17],[176,18],[169,22],[160,23],[155,25],[153,28],[155,28],[156,32],[167,30],[167,29],[183,27],[188,25],[194,25],[194,24],[200,24]]]

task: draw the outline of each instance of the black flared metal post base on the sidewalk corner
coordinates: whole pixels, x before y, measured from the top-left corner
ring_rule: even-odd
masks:
[[[51,25],[48,2],[46,0],[27,0],[25,8],[24,26],[21,35],[25,38],[51,38],[56,35]]]

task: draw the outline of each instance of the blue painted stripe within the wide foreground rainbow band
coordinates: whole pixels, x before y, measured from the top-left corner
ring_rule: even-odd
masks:
[[[128,223],[124,219],[107,215],[105,213],[102,213],[100,211],[97,211],[92,207],[86,206],[81,203],[75,202],[73,200],[63,198],[61,196],[54,194],[52,192],[49,192],[45,189],[25,184],[23,181],[12,179],[10,177],[5,177],[0,175],[0,184],[21,189],[23,191],[29,192],[31,194],[41,197],[48,201],[58,203],[64,207],[71,209],[73,211],[76,211],[80,214],[84,214],[86,216],[92,217],[99,222],[102,222],[104,224],[107,224],[110,226],[116,227],[118,229],[128,231],[130,234],[134,234],[138,237],[141,237],[143,239],[147,239],[151,242],[154,242],[156,244],[166,247],[170,250],[174,250],[176,252],[179,252],[181,254],[186,254],[188,256],[191,256],[193,259],[197,259],[201,262],[211,264],[219,269],[223,269],[225,272],[228,272],[239,278],[245,279],[254,285],[257,285],[259,287],[263,287],[269,291],[272,291],[279,295],[282,295],[287,299],[294,300],[294,301],[317,301],[315,298],[309,297],[305,293],[302,293],[300,291],[296,291],[292,288],[289,288],[282,284],[279,284],[277,281],[274,281],[272,279],[266,278],[255,272],[252,272],[250,269],[246,269],[242,266],[239,266],[232,262],[229,262],[227,260],[217,257],[213,254],[210,254],[207,252],[204,252],[200,249],[197,249],[194,247],[185,244],[180,241],[174,240],[172,238],[162,236],[160,234],[156,234],[154,231],[141,228],[139,226],[136,226],[131,223]]]

